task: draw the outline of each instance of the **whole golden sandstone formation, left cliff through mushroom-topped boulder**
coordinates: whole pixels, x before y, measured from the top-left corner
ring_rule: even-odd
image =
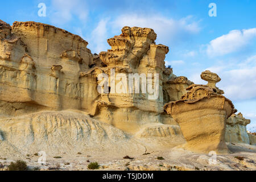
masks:
[[[150,28],[123,27],[108,39],[112,48],[97,55],[60,28],[0,20],[0,155],[123,155],[186,142],[189,150],[226,150],[226,118],[234,107],[215,85],[220,78],[206,71],[201,77],[209,84],[195,85],[174,75],[164,65],[169,48],[155,40]],[[141,81],[129,90],[132,73]],[[108,92],[98,92],[102,74]],[[152,92],[136,90],[147,75]]]

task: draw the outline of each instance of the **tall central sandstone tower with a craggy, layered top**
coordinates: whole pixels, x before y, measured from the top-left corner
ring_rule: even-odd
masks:
[[[161,44],[156,45],[155,39],[154,30],[139,27],[123,27],[121,35],[108,39],[112,49],[100,53],[101,65],[105,65],[105,68],[96,66],[94,69],[104,72],[109,78],[118,75],[119,77],[115,81],[109,80],[110,93],[102,94],[98,99],[98,113],[94,118],[111,123],[129,133],[136,133],[148,122],[161,123],[163,120],[164,123],[169,122],[170,119],[167,118],[166,121],[163,113],[162,89],[164,59],[169,49]],[[111,69],[114,69],[115,75],[112,75]],[[156,79],[152,78],[153,85],[156,84],[156,80],[159,83],[156,97],[148,92],[142,93],[142,89],[136,92],[133,88],[133,94],[127,93],[131,73],[138,74],[142,80],[149,74],[152,76],[158,74]],[[118,92],[121,82],[124,89]],[[157,89],[156,86],[154,89]]]

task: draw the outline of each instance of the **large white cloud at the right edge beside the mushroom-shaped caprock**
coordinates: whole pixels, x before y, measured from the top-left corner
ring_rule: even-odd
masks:
[[[248,57],[241,64],[222,64],[205,70],[217,73],[221,77],[217,86],[223,89],[225,96],[232,101],[256,98],[256,55]],[[192,75],[192,78],[199,81],[200,76],[196,74]]]

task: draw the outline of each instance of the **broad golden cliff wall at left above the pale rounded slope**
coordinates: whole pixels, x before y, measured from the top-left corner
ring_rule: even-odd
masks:
[[[85,40],[35,22],[14,22],[7,30],[0,47],[1,115],[88,109],[98,93],[93,76],[79,77],[92,63]]]

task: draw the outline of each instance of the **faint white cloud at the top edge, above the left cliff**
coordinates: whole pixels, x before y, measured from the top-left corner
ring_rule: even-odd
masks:
[[[52,0],[52,14],[50,20],[52,23],[61,25],[72,20],[77,16],[85,21],[88,16],[88,8],[82,0]]]

